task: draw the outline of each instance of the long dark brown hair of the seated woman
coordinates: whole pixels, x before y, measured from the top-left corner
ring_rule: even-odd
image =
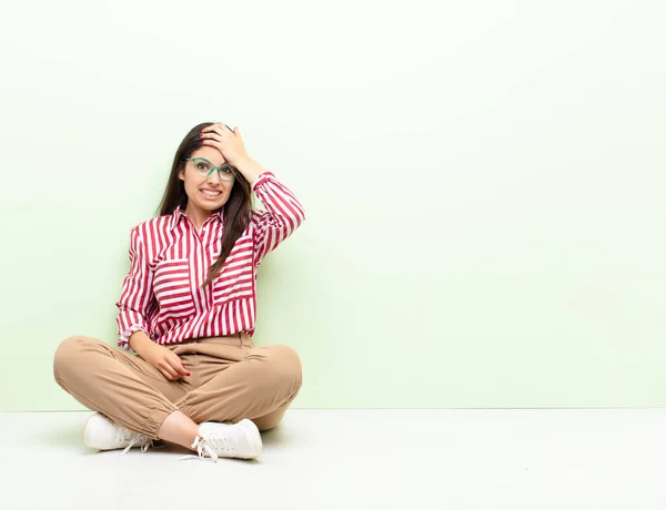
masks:
[[[171,165],[171,175],[169,175],[169,182],[167,183],[167,190],[164,190],[164,195],[160,202],[158,215],[167,216],[172,214],[178,206],[180,206],[183,211],[188,206],[185,184],[179,178],[178,174],[185,166],[186,161],[184,161],[184,159],[190,157],[194,151],[203,145],[201,143],[201,137],[199,136],[201,130],[212,124],[214,123],[204,122],[192,128],[192,130],[181,142],[178,151],[175,151],[173,164]],[[250,186],[248,180],[243,177],[243,174],[241,174],[239,171],[235,171],[235,169],[234,174],[235,182],[231,188],[231,194],[229,195],[226,203],[222,206],[222,211],[224,211],[222,251],[220,252],[215,263],[209,269],[202,288],[209,285],[218,275],[218,273],[220,273],[222,266],[224,265],[224,261],[226,261],[226,257],[231,253],[233,245],[248,226],[252,214],[252,187]]]

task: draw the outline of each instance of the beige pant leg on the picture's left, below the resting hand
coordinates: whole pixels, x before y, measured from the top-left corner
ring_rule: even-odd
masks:
[[[164,419],[178,410],[172,400],[192,387],[189,381],[168,380],[138,356],[84,336],[60,344],[53,376],[87,408],[153,439]]]

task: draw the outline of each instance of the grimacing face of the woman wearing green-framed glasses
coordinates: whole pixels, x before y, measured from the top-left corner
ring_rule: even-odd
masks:
[[[198,149],[190,160],[185,161],[178,176],[185,184],[190,213],[194,212],[194,207],[200,210],[199,212],[210,214],[226,203],[235,181],[233,174],[226,173],[224,167],[210,172],[213,166],[221,166],[224,163],[226,162],[220,151],[210,146]],[[205,175],[208,173],[210,175]]]

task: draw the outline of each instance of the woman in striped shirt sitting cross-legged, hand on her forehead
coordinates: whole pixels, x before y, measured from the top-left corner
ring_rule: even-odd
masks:
[[[252,191],[265,211],[252,211]],[[252,160],[238,128],[204,123],[173,159],[160,216],[130,233],[117,303],[119,346],[75,336],[56,353],[58,384],[98,411],[98,450],[163,440],[253,459],[301,388],[283,345],[254,347],[256,268],[303,222],[303,207]],[[134,355],[132,355],[135,354]]]

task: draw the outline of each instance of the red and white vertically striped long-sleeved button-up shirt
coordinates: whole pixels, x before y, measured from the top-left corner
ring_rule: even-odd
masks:
[[[222,249],[222,211],[212,214],[199,233],[180,208],[132,228],[131,266],[115,304],[120,347],[131,350],[134,332],[144,332],[158,344],[254,334],[256,268],[301,225],[305,214],[270,171],[252,188],[265,211],[253,211],[222,272],[204,289],[208,269]]]

